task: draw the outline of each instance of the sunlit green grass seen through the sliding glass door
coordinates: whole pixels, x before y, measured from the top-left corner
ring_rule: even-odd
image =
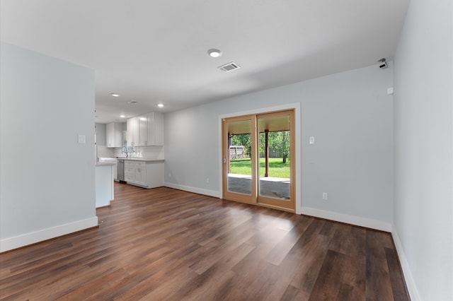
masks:
[[[236,175],[251,175],[251,159],[231,160],[231,173]],[[264,176],[265,158],[260,158],[260,176]],[[289,159],[283,164],[282,158],[269,158],[269,177],[290,178]]]

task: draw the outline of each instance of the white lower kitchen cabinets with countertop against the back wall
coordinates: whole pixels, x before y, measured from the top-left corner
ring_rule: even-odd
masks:
[[[144,188],[161,187],[164,184],[164,163],[125,160],[125,181]]]

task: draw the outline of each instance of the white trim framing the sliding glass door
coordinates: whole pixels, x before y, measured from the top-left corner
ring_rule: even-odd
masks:
[[[230,118],[230,117],[237,117],[243,115],[251,115],[251,114],[263,114],[267,112],[273,111],[282,111],[282,110],[294,110],[294,117],[296,119],[296,124],[294,129],[296,130],[296,213],[302,213],[302,144],[301,144],[301,137],[302,137],[302,129],[301,129],[301,121],[300,121],[300,102],[294,102],[287,105],[277,105],[275,107],[263,107],[256,110],[248,110],[242,112],[234,112],[230,114],[223,114],[219,115],[219,194],[220,198],[222,198],[222,119]]]

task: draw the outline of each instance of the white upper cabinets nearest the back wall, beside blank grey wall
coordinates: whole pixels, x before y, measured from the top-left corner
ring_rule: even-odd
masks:
[[[127,119],[128,146],[163,146],[164,114],[151,112]]]

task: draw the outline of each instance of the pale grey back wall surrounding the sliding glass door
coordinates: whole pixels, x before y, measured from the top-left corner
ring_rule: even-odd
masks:
[[[390,230],[391,85],[370,66],[165,114],[166,185],[221,196],[219,116],[299,102],[303,213]]]

